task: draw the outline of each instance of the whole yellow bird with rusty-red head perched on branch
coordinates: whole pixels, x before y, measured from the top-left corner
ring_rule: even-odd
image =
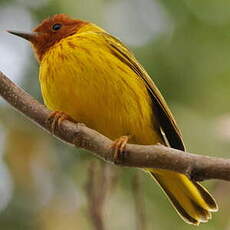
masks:
[[[58,14],[33,33],[9,32],[32,43],[48,108],[111,139],[129,136],[130,143],[185,150],[174,117],[148,73],[105,30]],[[187,223],[207,222],[217,211],[215,200],[199,183],[172,171],[148,171]]]

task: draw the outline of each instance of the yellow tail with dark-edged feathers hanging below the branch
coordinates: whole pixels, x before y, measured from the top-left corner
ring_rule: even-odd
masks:
[[[148,171],[160,184],[185,222],[199,225],[200,222],[207,222],[211,218],[211,212],[218,210],[208,191],[185,175],[161,169]]]

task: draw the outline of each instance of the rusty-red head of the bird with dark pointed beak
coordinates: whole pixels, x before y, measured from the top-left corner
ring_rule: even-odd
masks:
[[[88,22],[72,19],[65,14],[57,14],[43,20],[33,29],[32,33],[8,32],[30,41],[38,60],[41,61],[43,55],[50,47],[61,39],[77,33],[86,24]]]

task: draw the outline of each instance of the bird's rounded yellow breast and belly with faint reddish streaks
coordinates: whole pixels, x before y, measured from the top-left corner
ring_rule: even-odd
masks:
[[[52,110],[113,139],[138,139],[142,132],[148,137],[133,142],[153,138],[156,122],[144,82],[98,41],[72,38],[50,49],[41,62],[40,83]]]

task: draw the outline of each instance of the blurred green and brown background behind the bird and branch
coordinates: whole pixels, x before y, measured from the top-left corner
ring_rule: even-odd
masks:
[[[0,70],[41,102],[30,45],[4,31],[30,31],[56,13],[93,21],[135,52],[190,152],[229,156],[229,1],[0,0]],[[220,210],[199,229],[230,229],[230,184],[205,184]],[[141,170],[105,164],[61,143],[0,98],[0,229],[100,228],[195,227]]]

